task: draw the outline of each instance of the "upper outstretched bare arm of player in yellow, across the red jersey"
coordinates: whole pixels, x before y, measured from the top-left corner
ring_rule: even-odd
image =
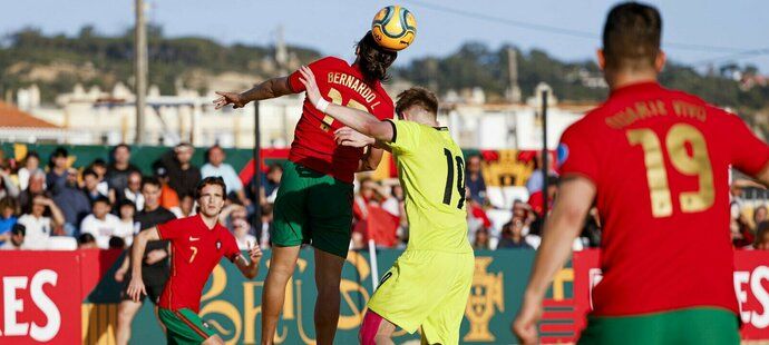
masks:
[[[306,66],[302,66],[299,71],[302,73],[299,80],[306,88],[308,98],[318,110],[377,140],[392,140],[392,126],[390,124],[380,121],[369,112],[330,103],[321,96],[312,70]]]

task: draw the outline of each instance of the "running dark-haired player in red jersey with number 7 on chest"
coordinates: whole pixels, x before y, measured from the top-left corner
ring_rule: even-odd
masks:
[[[171,277],[158,302],[158,317],[166,327],[168,344],[224,344],[197,315],[203,287],[222,257],[235,264],[249,279],[259,274],[262,258],[259,246],[249,249],[249,263],[237,249],[230,230],[218,224],[225,195],[226,187],[221,177],[206,177],[196,188],[197,215],[157,225],[139,233],[134,240],[133,275],[128,285],[128,295],[134,300],[146,295],[142,256],[147,241],[171,241]]]

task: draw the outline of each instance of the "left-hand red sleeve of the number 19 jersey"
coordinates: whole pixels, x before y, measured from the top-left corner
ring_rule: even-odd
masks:
[[[581,130],[583,122],[578,121],[564,131],[558,145],[558,167],[561,175],[576,174],[598,180],[597,152],[591,145],[591,136]]]

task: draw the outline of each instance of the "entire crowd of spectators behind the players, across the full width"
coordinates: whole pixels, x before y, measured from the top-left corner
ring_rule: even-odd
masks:
[[[261,188],[256,190],[253,181],[242,183],[221,147],[208,148],[206,162],[199,168],[192,164],[194,150],[188,144],[177,145],[153,162],[152,174],[143,174],[132,164],[127,145],[114,147],[109,161],[95,159],[79,169],[71,167],[71,157],[61,147],[50,155],[46,167],[35,151],[18,162],[0,159],[0,248],[126,248],[143,229],[142,220],[147,215],[158,210],[174,217],[194,215],[195,186],[208,176],[221,176],[227,186],[221,221],[239,246],[259,244],[267,248],[282,165],[270,165],[261,174]],[[468,240],[475,249],[539,246],[545,210],[557,199],[558,176],[552,160],[548,162],[547,175],[534,170],[525,181],[526,198],[516,199],[509,209],[500,209],[489,201],[481,156],[467,158]],[[535,158],[535,165],[542,166],[541,156]],[[743,186],[732,186],[730,230],[736,248],[769,249],[767,205],[766,200],[747,198]],[[405,196],[396,179],[376,181],[361,177],[352,206],[351,249],[371,245],[406,247],[409,227]],[[257,211],[261,217],[255,219]],[[601,224],[593,208],[573,249],[600,247],[600,241]]]

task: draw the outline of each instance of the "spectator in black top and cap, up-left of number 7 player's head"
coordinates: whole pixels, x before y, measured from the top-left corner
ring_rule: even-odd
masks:
[[[201,181],[201,170],[192,165],[192,156],[195,148],[188,142],[182,142],[174,150],[160,157],[157,166],[166,168],[168,186],[173,188],[179,198],[195,195],[195,187]]]

